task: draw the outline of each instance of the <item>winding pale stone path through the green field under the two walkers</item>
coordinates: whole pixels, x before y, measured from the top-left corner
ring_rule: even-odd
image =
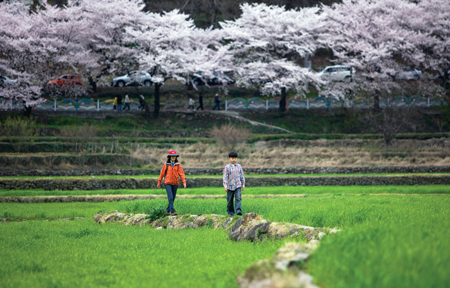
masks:
[[[261,260],[247,268],[238,277],[241,288],[318,288],[313,278],[302,270],[309,254],[317,248],[319,240],[339,230],[314,228],[293,223],[277,223],[262,219],[256,213],[242,218],[230,218],[217,214],[169,216],[152,221],[147,214],[126,214],[118,211],[99,213],[93,220],[99,224],[121,223],[123,225],[151,225],[156,229],[196,229],[209,226],[226,229],[227,238],[233,241],[259,242],[265,239],[301,237],[306,244],[287,243],[272,259]]]

